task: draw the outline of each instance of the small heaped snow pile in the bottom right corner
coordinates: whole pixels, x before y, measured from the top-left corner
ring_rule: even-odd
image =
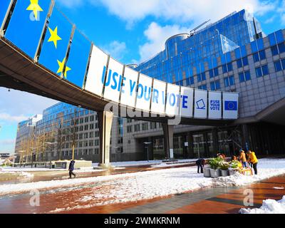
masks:
[[[239,210],[240,214],[285,214],[285,196],[276,201],[274,199],[266,199],[260,208]]]

